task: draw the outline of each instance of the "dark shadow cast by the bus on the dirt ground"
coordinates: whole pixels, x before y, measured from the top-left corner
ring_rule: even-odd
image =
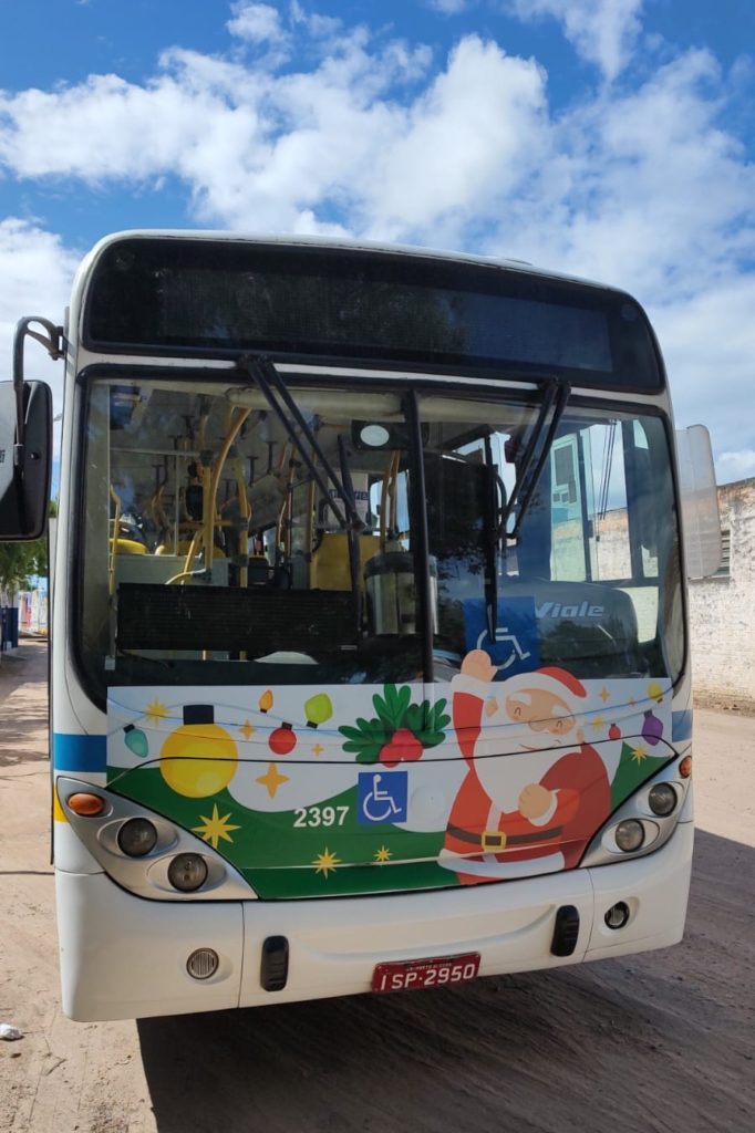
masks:
[[[754,902],[755,850],[698,832],[677,948],[447,990],[143,1020],[156,1127],[602,1133],[612,1113],[655,1128],[656,1097],[677,1127],[714,1128],[716,1065],[724,1081],[755,999]],[[730,963],[716,972],[722,946]],[[748,1081],[739,1101],[752,1111]]]

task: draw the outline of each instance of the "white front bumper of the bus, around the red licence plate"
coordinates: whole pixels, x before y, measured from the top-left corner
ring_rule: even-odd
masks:
[[[595,869],[463,889],[331,901],[144,901],[104,874],[57,872],[62,999],[80,1021],[253,1007],[368,991],[375,964],[467,952],[481,976],[560,968],[662,948],[681,939],[693,825],[681,823],[656,853]],[[604,922],[625,902],[619,930]],[[574,905],[579,935],[567,957],[551,952],[555,914]],[[289,943],[286,987],[265,991],[266,938]],[[217,973],[186,970],[200,947]]]

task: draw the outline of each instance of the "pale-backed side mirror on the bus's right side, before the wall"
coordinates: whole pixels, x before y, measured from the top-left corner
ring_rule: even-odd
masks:
[[[677,429],[687,578],[710,578],[721,565],[721,519],[711,437],[704,425]]]

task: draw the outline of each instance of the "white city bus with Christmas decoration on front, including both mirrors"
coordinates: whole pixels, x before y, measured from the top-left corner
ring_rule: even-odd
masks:
[[[133,231],[0,387],[0,531],[44,522],[62,1002],[132,1019],[621,956],[681,938],[675,437],[614,288],[418,248]],[[5,468],[5,471],[3,471]],[[686,536],[682,540],[682,510]]]

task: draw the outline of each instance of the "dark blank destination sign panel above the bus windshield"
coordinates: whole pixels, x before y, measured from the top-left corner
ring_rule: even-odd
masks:
[[[413,253],[124,238],[92,270],[84,341],[137,355],[334,360],[660,390],[642,308],[526,267]]]

